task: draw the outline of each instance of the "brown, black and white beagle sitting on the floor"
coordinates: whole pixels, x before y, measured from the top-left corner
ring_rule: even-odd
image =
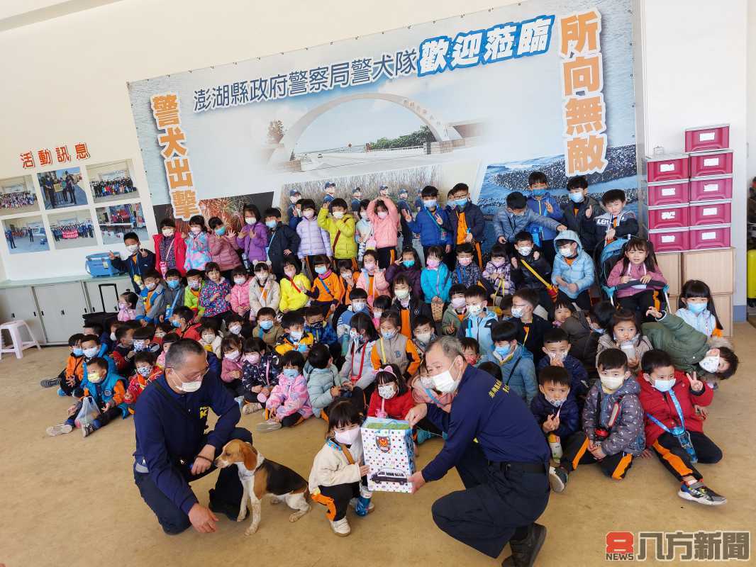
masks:
[[[289,516],[290,522],[296,522],[310,511],[307,481],[288,466],[265,459],[256,448],[240,439],[226,443],[222,453],[215,459],[215,466],[219,469],[234,464],[239,470],[239,480],[244,488],[237,522],[246,518],[248,497],[252,505],[252,522],[244,534],[251,535],[257,531],[260,524],[260,500],[268,494],[271,496],[271,504],[285,501],[288,507],[296,510]]]

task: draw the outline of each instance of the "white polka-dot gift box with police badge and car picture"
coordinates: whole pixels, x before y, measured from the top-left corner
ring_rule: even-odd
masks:
[[[371,491],[410,492],[409,477],[415,472],[412,428],[406,421],[368,417],[361,427],[365,464],[370,466],[367,488]]]

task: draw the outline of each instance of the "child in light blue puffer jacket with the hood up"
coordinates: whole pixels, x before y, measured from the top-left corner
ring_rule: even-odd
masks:
[[[593,259],[583,251],[580,238],[574,231],[563,231],[554,240],[557,256],[551,271],[551,283],[559,286],[559,299],[575,302],[585,311],[590,310],[588,288],[596,280]]]

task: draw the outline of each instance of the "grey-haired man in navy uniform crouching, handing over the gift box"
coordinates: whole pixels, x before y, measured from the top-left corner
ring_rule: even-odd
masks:
[[[436,525],[494,558],[509,542],[512,556],[502,565],[533,565],[546,538],[534,522],[549,501],[550,452],[541,428],[518,395],[466,363],[458,339],[435,339],[425,358],[433,389],[457,395],[449,413],[419,404],[407,414],[411,425],[427,416],[448,435],[435,459],[410,477],[413,491],[456,466],[465,489],[433,503]]]

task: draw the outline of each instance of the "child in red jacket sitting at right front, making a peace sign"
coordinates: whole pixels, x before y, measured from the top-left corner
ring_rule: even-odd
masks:
[[[703,431],[695,406],[711,404],[712,389],[696,373],[675,370],[670,356],[650,350],[641,361],[640,404],[646,414],[646,447],[682,484],[677,495],[685,500],[718,506],[727,498],[702,482],[693,463],[718,463],[722,451]],[[642,380],[641,380],[642,378]]]

